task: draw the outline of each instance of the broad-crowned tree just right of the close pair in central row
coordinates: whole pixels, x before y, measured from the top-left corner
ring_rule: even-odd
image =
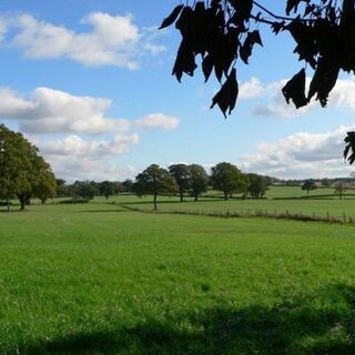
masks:
[[[247,176],[235,165],[225,162],[212,168],[211,181],[213,189],[223,192],[225,201],[232,193],[245,192],[248,185]]]

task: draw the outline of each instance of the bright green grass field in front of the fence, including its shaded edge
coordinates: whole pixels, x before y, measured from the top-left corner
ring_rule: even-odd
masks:
[[[0,354],[355,353],[353,226],[102,201],[0,225]]]

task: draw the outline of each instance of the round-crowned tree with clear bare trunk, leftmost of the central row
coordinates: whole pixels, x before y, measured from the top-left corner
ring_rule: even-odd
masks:
[[[158,210],[158,195],[176,193],[178,184],[168,170],[152,164],[136,175],[133,190],[139,196],[153,195],[154,210]]]

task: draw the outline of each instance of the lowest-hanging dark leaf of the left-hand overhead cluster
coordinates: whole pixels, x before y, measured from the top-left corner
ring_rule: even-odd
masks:
[[[232,113],[235,108],[236,99],[239,94],[239,85],[236,81],[236,70],[232,69],[231,74],[229,75],[225,83],[222,85],[221,90],[215,94],[212,99],[211,109],[214,108],[215,104],[219,105],[223,115],[226,118],[226,113]]]

